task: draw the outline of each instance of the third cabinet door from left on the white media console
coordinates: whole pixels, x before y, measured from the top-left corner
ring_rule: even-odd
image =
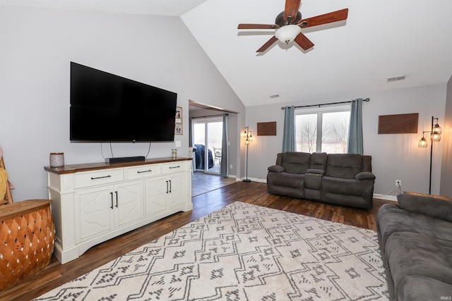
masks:
[[[168,209],[169,180],[167,177],[145,179],[146,217],[155,216]]]

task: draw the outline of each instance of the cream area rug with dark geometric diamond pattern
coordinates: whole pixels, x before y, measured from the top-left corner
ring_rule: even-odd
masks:
[[[374,231],[234,202],[36,300],[388,300]]]

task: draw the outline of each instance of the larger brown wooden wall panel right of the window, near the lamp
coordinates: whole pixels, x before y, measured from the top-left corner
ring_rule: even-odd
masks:
[[[379,134],[417,133],[419,113],[380,115]]]

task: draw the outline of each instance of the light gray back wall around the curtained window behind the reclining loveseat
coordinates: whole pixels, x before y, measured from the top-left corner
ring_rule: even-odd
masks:
[[[417,147],[423,130],[429,130],[432,116],[444,121],[446,85],[430,85],[384,92],[369,92],[350,97],[311,99],[294,104],[274,104],[246,108],[246,123],[256,133],[256,123],[276,121],[276,136],[255,136],[249,145],[249,178],[266,179],[266,169],[275,164],[276,154],[283,143],[285,105],[343,102],[358,97],[371,99],[363,104],[364,154],[372,156],[376,175],[376,194],[384,195],[395,188],[395,180],[402,180],[402,189],[428,193],[429,150]],[[379,115],[419,113],[417,134],[378,135]],[[439,193],[442,142],[434,145],[432,193]],[[396,195],[393,192],[392,195]]]

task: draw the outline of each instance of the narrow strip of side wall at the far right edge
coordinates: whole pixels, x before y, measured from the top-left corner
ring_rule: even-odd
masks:
[[[452,76],[447,83],[444,123],[440,125],[443,129],[443,133],[441,134],[441,140],[443,140],[443,160],[441,164],[440,194],[446,197],[452,197]]]

